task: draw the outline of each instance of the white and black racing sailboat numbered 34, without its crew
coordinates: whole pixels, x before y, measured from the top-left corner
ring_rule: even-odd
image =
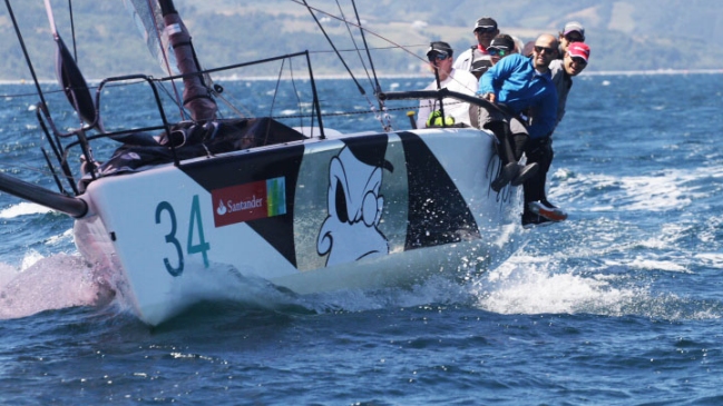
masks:
[[[404,287],[440,274],[463,279],[519,247],[520,192],[490,187],[500,168],[490,132],[326,128],[309,52],[279,59],[309,62],[313,97],[304,106],[311,125],[219,118],[211,76],[255,62],[203,70],[172,1],[134,3],[145,8],[138,14],[148,21],[148,38],[157,39],[164,63],[179,73],[107,78],[92,95],[47,1],[57,76],[82,125],[67,132],[57,128],[38,87],[37,116],[51,150],[43,152],[58,190],[8,174],[0,174],[0,190],[74,217],[78,251],[118,279],[118,294],[144,323],[158,325],[213,300],[225,278],[255,278],[299,295]],[[178,121],[159,97],[172,80],[184,85],[179,105],[188,117]],[[145,83],[138,97],[155,100],[158,119],[143,128],[106,129],[104,89],[129,81]],[[446,89],[375,89],[374,96],[378,113],[391,99],[486,102]],[[99,157],[96,142],[117,147]],[[80,157],[81,165],[74,168],[70,157]]]

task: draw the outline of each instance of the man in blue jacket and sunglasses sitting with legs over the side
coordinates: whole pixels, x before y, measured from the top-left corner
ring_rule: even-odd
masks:
[[[557,57],[558,46],[555,36],[541,34],[535,41],[533,58],[510,55],[479,80],[477,93],[495,107],[472,108],[472,123],[491,130],[500,143],[502,166],[490,185],[492,190],[508,184],[522,185],[537,171],[536,162],[522,167],[518,161],[528,140],[549,135],[557,122],[557,91],[549,65]],[[524,111],[533,119],[529,126],[520,116]]]

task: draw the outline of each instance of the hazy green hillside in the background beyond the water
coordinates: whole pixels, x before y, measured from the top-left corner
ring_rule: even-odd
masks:
[[[336,1],[309,1],[333,16]],[[343,14],[354,20],[354,10],[340,0]],[[11,1],[25,42],[40,78],[55,77],[55,51],[42,1]],[[71,47],[68,2],[52,2],[57,26]],[[422,56],[431,40],[446,40],[462,50],[473,42],[471,27],[479,17],[497,19],[502,32],[521,40],[543,32],[556,33],[566,21],[586,26],[590,44],[589,71],[721,69],[723,68],[723,3],[715,0],[593,1],[577,2],[510,0],[482,2],[458,0],[358,0],[356,9],[370,30],[367,41],[374,48],[374,66],[381,75],[423,72]],[[89,78],[129,72],[160,76],[121,1],[74,1],[75,37],[79,66]],[[205,68],[245,62],[301,50],[313,53],[319,73],[342,73],[343,66],[301,1],[176,0]],[[340,50],[354,49],[348,28],[323,13],[330,37]],[[358,30],[352,28],[356,46]],[[0,11],[0,79],[29,79],[19,42],[7,10]],[[401,49],[397,46],[403,46]],[[344,52],[350,65],[356,52]],[[271,72],[256,71],[258,75]]]

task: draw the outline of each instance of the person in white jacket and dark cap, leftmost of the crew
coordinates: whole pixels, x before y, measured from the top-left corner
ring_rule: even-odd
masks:
[[[473,96],[478,81],[472,73],[452,68],[453,50],[449,43],[434,41],[427,50],[429,67],[434,72],[434,80],[424,90],[447,88]],[[452,98],[420,100],[417,116],[417,128],[430,127],[470,127],[469,103]]]

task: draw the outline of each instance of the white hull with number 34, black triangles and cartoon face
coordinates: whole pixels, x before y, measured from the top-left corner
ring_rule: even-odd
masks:
[[[521,229],[518,189],[490,188],[492,142],[476,129],[350,135],[106,177],[81,196],[76,244],[121,275],[150,325],[223,290],[218,269],[299,294],[485,269]]]

